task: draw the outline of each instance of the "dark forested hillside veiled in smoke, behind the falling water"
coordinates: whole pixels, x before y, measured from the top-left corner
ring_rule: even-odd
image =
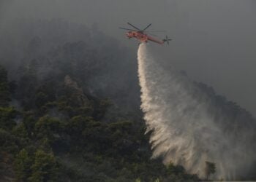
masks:
[[[18,20],[2,35],[0,181],[199,181],[151,159],[135,52],[62,20]],[[229,122],[253,120],[195,85]]]

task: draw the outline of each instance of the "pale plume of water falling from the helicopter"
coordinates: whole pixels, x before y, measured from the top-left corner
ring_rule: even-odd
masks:
[[[206,176],[206,161],[216,164],[215,179],[250,178],[255,126],[243,121],[227,124],[208,95],[186,75],[163,68],[150,52],[140,44],[141,108],[151,132],[152,157],[183,165],[200,178]]]

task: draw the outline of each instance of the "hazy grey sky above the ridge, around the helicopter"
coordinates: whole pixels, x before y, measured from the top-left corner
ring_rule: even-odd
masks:
[[[210,84],[256,116],[256,2],[254,0],[0,0],[0,26],[17,17],[63,18],[99,28],[129,47],[127,21],[167,30],[165,64]],[[160,37],[165,34],[159,34]]]

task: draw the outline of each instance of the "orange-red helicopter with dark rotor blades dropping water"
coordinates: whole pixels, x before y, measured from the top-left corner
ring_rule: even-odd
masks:
[[[162,40],[155,39],[154,37],[152,37],[155,35],[151,34],[150,32],[157,32],[157,31],[146,31],[146,29],[151,26],[151,23],[149,25],[147,25],[146,28],[144,28],[142,30],[140,28],[135,27],[135,25],[132,25],[131,23],[128,23],[128,25],[132,26],[135,29],[119,27],[120,29],[128,31],[126,33],[128,39],[135,38],[135,39],[138,39],[138,41],[140,41],[140,43],[154,41],[157,44],[164,44],[165,42],[167,42],[167,44],[169,44],[169,41],[172,40],[172,39],[168,39],[168,36],[166,36],[165,39],[162,39]],[[147,33],[151,34],[152,36],[148,36]]]

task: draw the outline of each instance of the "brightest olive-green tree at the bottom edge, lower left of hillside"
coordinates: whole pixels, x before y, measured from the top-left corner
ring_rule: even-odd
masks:
[[[34,164],[31,166],[31,182],[57,181],[58,164],[55,156],[45,151],[37,150],[34,157]]]

